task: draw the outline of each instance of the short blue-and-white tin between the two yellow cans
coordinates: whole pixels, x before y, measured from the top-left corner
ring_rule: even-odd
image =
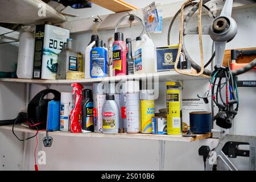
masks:
[[[167,134],[166,117],[152,117],[152,134],[156,134],[156,135]]]

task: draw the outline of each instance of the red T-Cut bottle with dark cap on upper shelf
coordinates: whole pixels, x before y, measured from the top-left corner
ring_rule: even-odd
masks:
[[[123,33],[115,32],[113,43],[113,76],[126,75],[126,43],[123,41]]]

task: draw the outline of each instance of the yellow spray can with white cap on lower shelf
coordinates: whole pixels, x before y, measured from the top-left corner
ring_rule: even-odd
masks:
[[[141,90],[141,133],[152,133],[152,117],[155,116],[154,90]]]

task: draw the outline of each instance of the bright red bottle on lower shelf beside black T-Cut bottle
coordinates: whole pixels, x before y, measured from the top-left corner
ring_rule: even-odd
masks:
[[[72,94],[75,94],[75,106],[74,109],[71,110],[69,115],[69,128],[72,133],[81,133],[82,132],[82,88],[84,88],[81,84],[73,83]]]

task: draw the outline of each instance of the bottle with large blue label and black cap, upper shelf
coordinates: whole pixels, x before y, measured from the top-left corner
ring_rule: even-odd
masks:
[[[90,51],[90,77],[108,76],[108,51],[103,47],[102,40],[96,40],[96,47]]]

